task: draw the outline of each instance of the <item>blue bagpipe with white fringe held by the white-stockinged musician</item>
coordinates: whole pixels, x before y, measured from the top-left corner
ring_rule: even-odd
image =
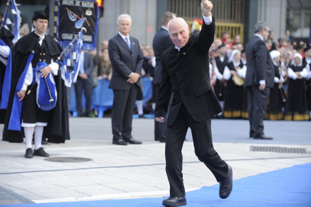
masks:
[[[73,39],[69,43],[69,45],[61,52],[60,56],[57,57],[56,60],[56,63],[59,63],[61,65],[61,77],[67,87],[71,87],[71,85],[77,81],[80,65],[80,53],[83,44],[83,31],[86,32],[86,29],[84,27],[81,28],[80,32],[78,32],[78,37]],[[72,47],[73,49],[71,49]],[[73,50],[73,59],[76,60],[76,65],[71,73],[67,73],[67,66],[70,66],[71,50]],[[67,51],[67,58],[63,58],[62,60],[62,57],[66,54]],[[38,84],[37,105],[43,111],[49,111],[53,109],[56,106],[57,102],[57,90],[52,73],[49,73],[47,78],[40,76],[40,71],[46,66],[48,66],[46,62],[39,62],[36,67],[36,83]],[[32,87],[28,90],[28,94],[31,92],[34,85],[35,84],[33,84]]]

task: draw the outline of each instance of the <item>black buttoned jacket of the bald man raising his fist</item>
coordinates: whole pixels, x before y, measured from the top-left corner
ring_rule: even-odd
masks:
[[[163,52],[162,82],[158,90],[155,115],[165,117],[172,88],[174,95],[167,125],[174,123],[181,102],[196,122],[205,121],[222,111],[209,80],[208,50],[214,41],[214,34],[213,18],[210,25],[203,22],[200,33],[191,36],[179,54],[174,46]]]

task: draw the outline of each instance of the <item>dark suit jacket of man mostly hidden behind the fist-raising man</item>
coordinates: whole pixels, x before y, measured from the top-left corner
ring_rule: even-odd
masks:
[[[155,67],[155,75],[154,75],[154,84],[161,83],[161,55],[162,53],[170,46],[174,45],[173,41],[169,37],[168,31],[164,28],[160,28],[159,31],[156,33],[153,41],[153,48],[155,51],[156,57],[156,67]]]

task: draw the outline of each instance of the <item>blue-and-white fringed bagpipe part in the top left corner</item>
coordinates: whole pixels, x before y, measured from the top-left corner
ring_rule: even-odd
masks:
[[[10,16],[7,12],[8,7],[10,5],[10,1],[11,1],[11,12],[14,15],[14,39],[12,41],[14,44],[20,39],[18,28],[21,26],[22,22],[21,11],[17,8],[20,4],[16,3],[15,0],[7,0],[5,3],[5,9],[3,12],[3,17],[0,25],[0,31],[2,27],[9,30],[8,25],[12,24]]]

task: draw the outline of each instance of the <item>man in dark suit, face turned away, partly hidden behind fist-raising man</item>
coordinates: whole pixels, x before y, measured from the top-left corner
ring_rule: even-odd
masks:
[[[153,86],[154,86],[153,99],[155,101],[157,98],[157,90],[159,89],[160,83],[161,83],[161,71],[162,71],[161,55],[168,47],[174,45],[174,43],[169,37],[168,30],[167,30],[167,24],[173,18],[176,18],[176,15],[170,11],[167,11],[163,14],[161,18],[162,26],[159,29],[159,31],[156,33],[156,36],[154,37],[154,41],[153,41],[153,48],[154,48],[155,57],[156,57],[156,67],[155,67],[155,75],[154,75],[154,81],[153,81]],[[155,140],[160,141],[160,142],[165,142],[166,133],[167,133],[166,124],[155,121]]]

